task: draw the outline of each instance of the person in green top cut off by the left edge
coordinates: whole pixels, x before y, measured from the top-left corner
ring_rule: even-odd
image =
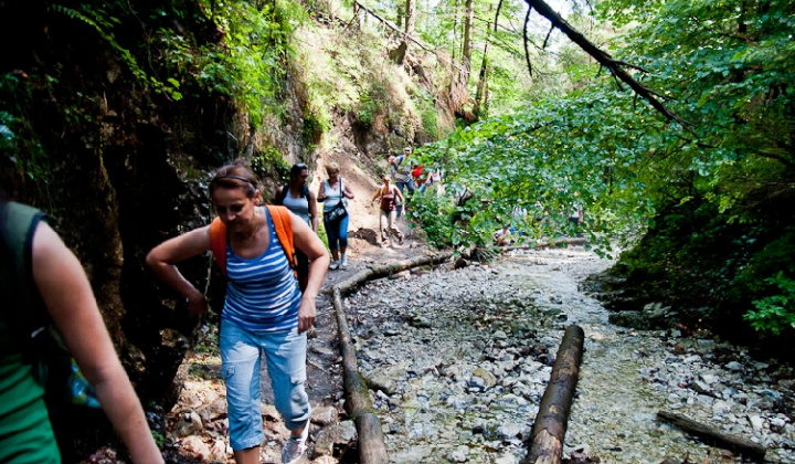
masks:
[[[94,387],[132,462],[162,463],[83,266],[43,219],[34,208],[0,200],[0,462],[62,462],[45,389],[34,377],[34,340],[47,329],[29,333],[20,320],[40,313]]]

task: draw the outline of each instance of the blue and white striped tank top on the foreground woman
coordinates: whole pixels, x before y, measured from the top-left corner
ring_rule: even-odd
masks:
[[[276,236],[266,208],[271,243],[265,252],[244,260],[226,242],[226,300],[222,320],[254,333],[286,334],[298,327],[301,294],[293,268]]]

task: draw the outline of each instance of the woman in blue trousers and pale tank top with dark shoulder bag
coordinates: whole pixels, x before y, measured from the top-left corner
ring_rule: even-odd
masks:
[[[339,175],[339,165],[331,161],[326,165],[328,180],[320,184],[317,201],[324,202],[324,226],[329,241],[329,250],[333,262],[330,270],[348,267],[348,200],[353,199],[353,191],[347,180]]]

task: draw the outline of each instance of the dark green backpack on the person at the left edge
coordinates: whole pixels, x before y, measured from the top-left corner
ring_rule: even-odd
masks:
[[[66,349],[33,282],[33,233],[44,213],[8,202],[1,207],[0,215],[6,241],[0,276],[3,286],[13,289],[3,292],[2,297],[11,304],[2,305],[0,317],[6,320],[14,342],[19,344],[24,361],[33,367],[36,381],[44,387],[51,419],[53,411],[66,405],[100,408],[94,388]]]

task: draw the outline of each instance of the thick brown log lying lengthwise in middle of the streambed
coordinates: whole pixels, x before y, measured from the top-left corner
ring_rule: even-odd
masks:
[[[522,464],[559,464],[563,456],[569,411],[576,389],[585,333],[569,326],[558,349],[550,381],[536,415],[530,450]]]

